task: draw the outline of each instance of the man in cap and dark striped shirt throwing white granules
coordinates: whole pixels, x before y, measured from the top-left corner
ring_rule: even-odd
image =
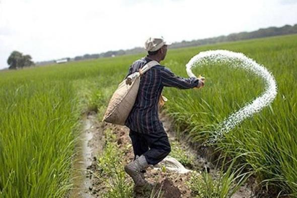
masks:
[[[144,44],[148,54],[131,65],[127,76],[138,72],[151,60],[159,63],[164,60],[167,45],[163,37],[148,38]],[[125,122],[130,128],[129,136],[135,156],[134,161],[125,165],[125,171],[132,177],[135,191],[148,186],[143,175],[148,165],[158,164],[171,151],[168,136],[158,116],[158,102],[163,99],[163,88],[190,89],[203,86],[204,79],[178,77],[161,64],[151,68],[141,77],[135,104]]]

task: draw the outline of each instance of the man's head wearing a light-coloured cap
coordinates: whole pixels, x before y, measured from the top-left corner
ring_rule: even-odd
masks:
[[[167,54],[167,45],[163,37],[160,38],[148,38],[145,41],[144,48],[148,55],[158,57],[159,61],[164,60]]]

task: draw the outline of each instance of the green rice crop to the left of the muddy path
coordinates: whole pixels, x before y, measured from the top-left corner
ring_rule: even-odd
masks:
[[[105,61],[0,73],[0,197],[67,194],[81,114],[116,84]]]

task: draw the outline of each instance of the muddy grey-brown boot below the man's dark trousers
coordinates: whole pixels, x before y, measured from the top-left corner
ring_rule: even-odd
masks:
[[[148,167],[147,161],[143,155],[135,159],[133,162],[125,165],[125,171],[134,181],[134,190],[140,191],[141,188],[148,186],[148,182],[141,176],[141,170],[145,170]]]

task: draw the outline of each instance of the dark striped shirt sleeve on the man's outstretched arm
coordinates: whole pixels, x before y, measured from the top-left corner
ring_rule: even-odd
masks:
[[[176,76],[168,68],[161,70],[162,84],[165,87],[176,87],[179,89],[190,89],[198,86],[199,80],[195,77],[183,78]]]

